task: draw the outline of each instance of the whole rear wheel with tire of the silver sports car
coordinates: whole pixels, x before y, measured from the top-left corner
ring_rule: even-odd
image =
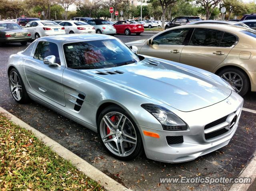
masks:
[[[18,103],[27,103],[29,101],[22,78],[15,68],[12,68],[9,72],[9,86],[15,101]]]

